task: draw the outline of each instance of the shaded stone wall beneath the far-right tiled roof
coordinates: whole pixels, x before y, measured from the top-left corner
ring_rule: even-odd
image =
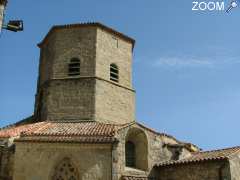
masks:
[[[159,180],[231,180],[227,161],[209,161],[160,167]]]

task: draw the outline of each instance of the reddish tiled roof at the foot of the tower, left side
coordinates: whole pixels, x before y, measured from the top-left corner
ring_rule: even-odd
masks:
[[[112,142],[120,125],[99,122],[39,122],[0,130],[0,138],[21,136],[16,141]]]

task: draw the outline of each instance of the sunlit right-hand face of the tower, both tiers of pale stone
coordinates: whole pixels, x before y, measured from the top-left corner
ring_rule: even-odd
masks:
[[[110,83],[110,64],[119,69],[119,82]],[[114,123],[135,121],[135,92],[132,90],[132,44],[97,28],[96,120]],[[120,86],[119,86],[120,85]]]

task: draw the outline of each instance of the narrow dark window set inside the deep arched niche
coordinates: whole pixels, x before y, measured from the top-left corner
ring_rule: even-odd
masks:
[[[125,144],[125,157],[126,157],[126,166],[127,167],[135,167],[136,166],[135,145],[131,141],[127,141]]]

